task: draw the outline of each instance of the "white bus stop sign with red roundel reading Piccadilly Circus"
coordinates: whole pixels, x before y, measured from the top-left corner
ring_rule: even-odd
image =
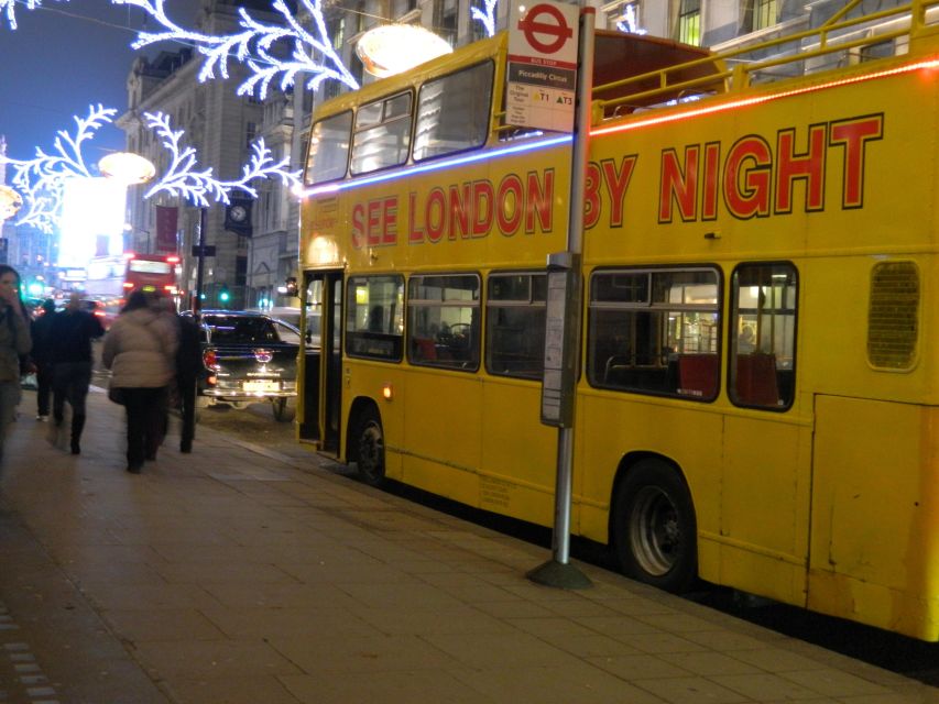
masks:
[[[516,127],[571,132],[577,79],[575,4],[512,6],[509,15],[506,120]]]

